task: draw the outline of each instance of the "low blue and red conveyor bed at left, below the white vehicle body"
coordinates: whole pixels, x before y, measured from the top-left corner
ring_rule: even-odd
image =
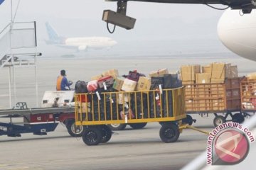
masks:
[[[0,135],[20,137],[22,133],[46,135],[57,127],[58,117],[62,114],[73,113],[73,107],[62,108],[27,108],[26,103],[17,103],[23,108],[0,110],[0,118],[9,118],[9,122],[0,120]],[[14,119],[23,118],[23,123],[14,123]]]

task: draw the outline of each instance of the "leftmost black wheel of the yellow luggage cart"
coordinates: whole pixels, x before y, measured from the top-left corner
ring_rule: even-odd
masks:
[[[82,140],[86,145],[98,145],[102,140],[102,132],[96,127],[87,127],[82,133]]]

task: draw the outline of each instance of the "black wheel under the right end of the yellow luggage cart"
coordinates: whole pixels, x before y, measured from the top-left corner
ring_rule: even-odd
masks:
[[[174,124],[163,125],[160,129],[159,135],[163,142],[176,142],[179,137],[178,126]]]

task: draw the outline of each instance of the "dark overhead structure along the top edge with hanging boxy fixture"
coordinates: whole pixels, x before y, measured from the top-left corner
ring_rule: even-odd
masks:
[[[155,2],[155,3],[170,3],[170,4],[205,4],[212,8],[211,5],[222,4],[231,9],[239,9],[242,13],[251,13],[253,8],[256,8],[256,0],[105,0],[105,1],[117,1],[117,12],[111,10],[103,11],[102,20],[108,23],[112,23],[115,26],[120,26],[127,30],[134,28],[136,19],[126,15],[127,1],[144,1],[144,2]],[[226,8],[216,8],[226,9]],[[110,33],[114,33],[110,31]]]

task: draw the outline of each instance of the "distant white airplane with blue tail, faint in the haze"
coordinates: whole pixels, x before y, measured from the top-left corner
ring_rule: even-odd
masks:
[[[46,23],[46,30],[49,37],[49,40],[46,40],[46,44],[78,51],[85,51],[87,49],[108,49],[117,44],[115,40],[108,37],[64,38],[58,35],[54,28],[50,26],[50,23]]]

